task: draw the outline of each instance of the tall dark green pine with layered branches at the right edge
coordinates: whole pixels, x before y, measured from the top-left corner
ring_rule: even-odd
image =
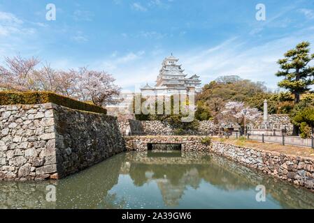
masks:
[[[278,86],[294,94],[295,104],[299,103],[301,93],[309,91],[311,84],[314,84],[314,67],[308,66],[314,54],[310,54],[309,46],[308,42],[299,43],[285,53],[284,59],[278,60],[280,70],[276,76],[284,77]]]

